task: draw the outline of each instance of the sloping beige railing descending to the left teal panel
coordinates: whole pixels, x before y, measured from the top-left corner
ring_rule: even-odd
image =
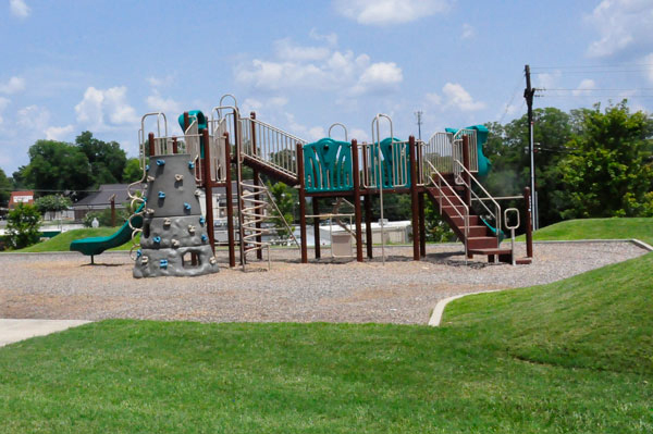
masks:
[[[307,141],[256,119],[243,119],[242,154],[297,176],[297,144]]]

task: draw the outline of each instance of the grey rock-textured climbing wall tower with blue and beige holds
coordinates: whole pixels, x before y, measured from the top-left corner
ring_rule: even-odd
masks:
[[[134,277],[218,272],[189,154],[150,157]]]

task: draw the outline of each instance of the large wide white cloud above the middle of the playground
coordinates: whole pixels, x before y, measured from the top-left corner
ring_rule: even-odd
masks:
[[[403,80],[396,63],[372,63],[367,54],[303,47],[289,39],[274,46],[274,59],[254,59],[237,66],[236,80],[262,91],[315,89],[355,96],[394,91]]]

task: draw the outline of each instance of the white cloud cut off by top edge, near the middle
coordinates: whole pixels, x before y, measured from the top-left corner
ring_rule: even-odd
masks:
[[[334,8],[343,16],[359,24],[401,24],[444,13],[449,0],[335,0]]]

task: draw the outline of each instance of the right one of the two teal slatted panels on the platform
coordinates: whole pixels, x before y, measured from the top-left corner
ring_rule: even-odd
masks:
[[[373,162],[371,169],[372,176],[375,177],[379,172],[379,144],[369,147],[367,156],[368,161]],[[410,187],[410,148],[408,142],[387,137],[381,140],[381,179],[383,188],[393,188],[395,185],[405,184]],[[405,179],[402,183],[401,174]],[[396,179],[395,179],[396,177]]]

